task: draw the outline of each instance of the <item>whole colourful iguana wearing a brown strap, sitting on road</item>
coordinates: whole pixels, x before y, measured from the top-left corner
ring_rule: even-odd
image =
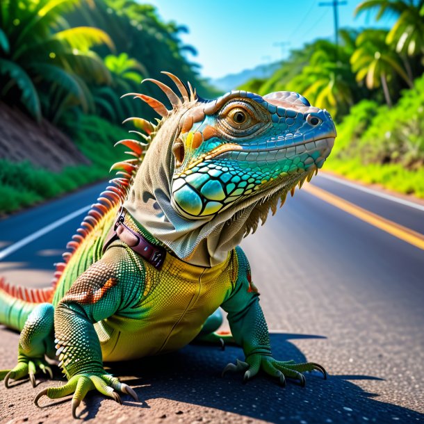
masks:
[[[38,370],[51,375],[45,355],[58,357],[68,382],[38,393],[74,393],[72,415],[92,389],[120,402],[133,389],[106,373],[103,361],[122,361],[182,348],[196,337],[218,340],[218,310],[228,314],[245,361],[224,373],[259,370],[285,384],[325,369],[313,362],[278,361],[250,266],[238,246],[243,236],[275,213],[288,192],[321,168],[336,137],[331,116],[295,92],[264,97],[231,91],[213,101],[197,96],[168,72],[178,94],[148,79],[168,97],[129,93],[161,120],[131,117],[140,140],[113,165],[117,177],[92,206],[56,265],[44,290],[1,282],[0,321],[21,331],[17,366],[0,371],[11,379]],[[147,81],[147,80],[145,80]],[[209,318],[208,318],[209,317]]]

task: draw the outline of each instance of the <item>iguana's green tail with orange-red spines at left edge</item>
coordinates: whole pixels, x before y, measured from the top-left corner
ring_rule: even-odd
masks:
[[[22,331],[28,315],[40,303],[51,302],[54,287],[10,286],[0,277],[0,324]]]

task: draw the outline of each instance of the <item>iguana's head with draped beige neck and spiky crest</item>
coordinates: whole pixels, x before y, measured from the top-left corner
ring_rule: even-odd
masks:
[[[129,179],[122,184],[131,215],[180,258],[211,266],[323,166],[336,130],[327,111],[295,92],[261,97],[232,91],[209,101],[166,74],[178,95],[149,81],[165,92],[172,109],[131,93],[162,120],[156,125],[130,118],[147,132],[149,148],[143,156],[137,141],[122,140],[138,159],[114,168]]]

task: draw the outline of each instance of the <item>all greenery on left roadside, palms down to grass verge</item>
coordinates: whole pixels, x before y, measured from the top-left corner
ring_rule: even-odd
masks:
[[[0,213],[107,179],[122,157],[113,144],[128,136],[122,121],[154,117],[142,101],[120,100],[139,92],[142,79],[168,70],[205,97],[215,95],[187,58],[196,52],[182,44],[184,31],[134,0],[2,0],[0,102],[53,123],[92,163],[57,173],[31,163],[25,152],[21,163],[0,152]],[[159,91],[143,87],[161,98]]]

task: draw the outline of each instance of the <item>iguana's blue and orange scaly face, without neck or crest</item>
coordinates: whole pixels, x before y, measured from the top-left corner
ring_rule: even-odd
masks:
[[[335,137],[329,113],[295,92],[197,101],[172,147],[172,206],[197,219],[246,197],[287,193],[323,166]]]

